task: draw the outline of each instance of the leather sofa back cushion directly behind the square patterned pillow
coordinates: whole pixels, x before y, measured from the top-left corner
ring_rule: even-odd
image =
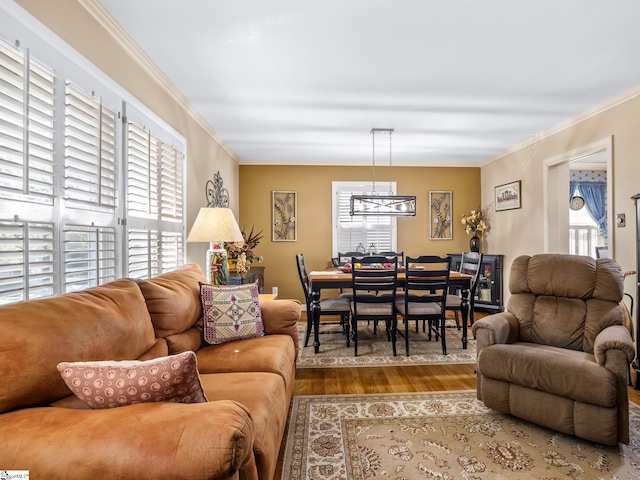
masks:
[[[182,333],[202,317],[200,282],[206,282],[206,277],[198,265],[183,265],[173,272],[136,282],[147,302],[157,337]]]

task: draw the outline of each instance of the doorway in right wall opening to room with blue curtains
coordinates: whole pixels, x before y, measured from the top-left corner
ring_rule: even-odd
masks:
[[[595,246],[606,242],[613,256],[613,190],[612,190],[612,138],[608,137],[584,147],[549,158],[544,162],[544,251],[552,253],[579,253],[595,256]],[[597,228],[572,227],[570,215],[570,182],[572,170],[598,170],[606,177],[606,230],[603,238]],[[575,219],[574,219],[575,220]],[[578,236],[582,235],[581,238]],[[572,239],[573,238],[573,243]]]

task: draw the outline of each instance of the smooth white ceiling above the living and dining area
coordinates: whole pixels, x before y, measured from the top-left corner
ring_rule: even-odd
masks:
[[[640,85],[638,0],[100,1],[242,164],[477,165]]]

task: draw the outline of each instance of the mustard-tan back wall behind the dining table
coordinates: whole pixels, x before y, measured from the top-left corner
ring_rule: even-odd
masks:
[[[405,254],[445,254],[469,249],[460,223],[463,213],[479,205],[479,168],[393,167],[398,195],[417,196],[417,215],[398,219],[398,248]],[[376,177],[389,178],[388,167],[376,167]],[[370,181],[371,167],[240,167],[240,226],[264,230],[256,253],[264,256],[265,287],[277,286],[281,298],[302,300],[295,254],[304,253],[307,268],[330,265],[332,253],[331,182]],[[298,240],[271,241],[271,192],[298,192]],[[453,192],[453,240],[429,240],[429,191]]]

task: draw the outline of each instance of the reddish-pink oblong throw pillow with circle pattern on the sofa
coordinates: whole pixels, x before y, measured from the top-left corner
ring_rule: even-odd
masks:
[[[191,351],[143,362],[61,362],[57,368],[69,389],[90,408],[207,401]]]

